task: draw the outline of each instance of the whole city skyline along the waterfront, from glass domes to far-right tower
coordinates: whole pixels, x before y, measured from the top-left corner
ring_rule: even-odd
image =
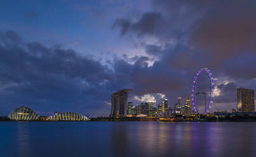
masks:
[[[191,106],[191,100],[188,97],[185,99],[185,103],[182,103],[182,97],[178,97],[177,103],[169,106],[168,99],[163,99],[161,103],[156,105],[152,102],[140,102],[133,106],[132,102],[128,102],[128,92],[132,91],[131,89],[121,89],[117,92],[111,94],[111,112],[109,118],[118,119],[125,117],[145,117],[149,118],[154,117],[166,117],[170,118],[175,115],[182,115],[184,118],[187,116],[196,116],[196,115],[208,115],[208,116],[220,116],[231,114],[231,112],[220,111],[216,106],[218,111],[208,110],[203,113],[199,113],[198,107],[197,110],[193,110]],[[255,115],[255,102],[254,102],[254,90],[252,89],[243,89],[238,88],[237,90],[237,108],[232,108],[232,116],[242,113],[242,115]],[[198,106],[198,104],[196,104]],[[241,115],[241,114],[240,114]],[[3,117],[3,116],[2,116]],[[90,120],[92,115],[81,115],[79,113],[72,112],[55,112],[51,116],[39,116],[34,110],[26,106],[18,106],[15,110],[11,111],[8,116],[11,120],[21,120],[21,121],[86,121]],[[100,117],[98,117],[100,118]]]

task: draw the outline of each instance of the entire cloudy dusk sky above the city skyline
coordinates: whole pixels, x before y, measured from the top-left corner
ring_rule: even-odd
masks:
[[[109,116],[119,89],[173,106],[204,67],[210,111],[231,111],[238,87],[256,90],[255,16],[250,0],[1,1],[0,115]],[[205,73],[196,90],[210,93]]]

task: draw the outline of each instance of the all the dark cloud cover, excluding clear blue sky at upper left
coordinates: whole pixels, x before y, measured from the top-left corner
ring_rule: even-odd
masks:
[[[30,106],[45,113],[107,116],[111,93],[124,88],[133,89],[129,101],[134,104],[146,98],[160,103],[166,97],[173,106],[177,97],[190,97],[194,75],[202,67],[212,70],[217,92],[213,101],[220,110],[234,108],[237,87],[256,89],[255,1],[158,0],[150,5],[107,26],[136,51],[109,53],[109,60],[1,31],[0,113]],[[200,76],[196,85],[198,91],[209,90],[208,76]]]

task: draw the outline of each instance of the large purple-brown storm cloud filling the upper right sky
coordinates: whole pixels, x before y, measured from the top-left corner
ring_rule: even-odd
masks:
[[[179,63],[174,65],[187,63],[196,68],[198,66],[191,63],[203,60],[216,68],[238,54],[255,53],[254,1],[246,1],[243,5],[240,1],[154,1],[154,5],[155,11],[143,13],[138,21],[130,21],[126,32],[138,37],[152,35],[164,43],[172,39],[183,48],[145,45],[145,51],[151,55],[180,51],[181,56],[176,55]],[[123,30],[121,25],[119,27]],[[177,61],[173,56],[171,60]]]

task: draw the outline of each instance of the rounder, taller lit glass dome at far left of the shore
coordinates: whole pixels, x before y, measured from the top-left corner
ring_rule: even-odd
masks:
[[[32,110],[31,108],[21,106],[16,108],[15,110],[11,111],[9,118],[10,120],[25,120],[25,121],[31,121],[31,120],[37,120],[39,115]]]

